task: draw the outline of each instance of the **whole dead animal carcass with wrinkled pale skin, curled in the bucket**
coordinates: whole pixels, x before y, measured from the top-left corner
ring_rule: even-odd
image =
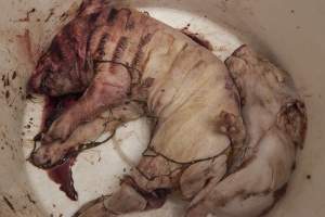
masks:
[[[31,162],[51,167],[89,138],[147,115],[155,124],[139,165],[116,193],[75,216],[158,208],[176,190],[191,202],[188,217],[259,216],[289,180],[304,106],[290,77],[248,47],[225,64],[146,14],[84,1],[30,79],[39,93],[84,93]]]

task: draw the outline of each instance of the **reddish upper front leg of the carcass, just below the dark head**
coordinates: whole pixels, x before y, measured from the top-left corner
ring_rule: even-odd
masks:
[[[105,65],[107,66],[98,67],[98,75],[79,101],[64,111],[51,125],[43,143],[56,140],[64,142],[80,124],[94,119],[102,112],[119,105],[127,98],[130,87],[127,68],[117,64]]]

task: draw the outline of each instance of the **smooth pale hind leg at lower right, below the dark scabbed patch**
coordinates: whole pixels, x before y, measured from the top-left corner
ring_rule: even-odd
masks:
[[[294,164],[294,148],[283,146],[284,141],[281,132],[271,130],[262,139],[257,156],[222,181],[212,180],[192,201],[186,217],[206,217],[209,213],[218,217],[256,217],[272,207],[285,192]]]

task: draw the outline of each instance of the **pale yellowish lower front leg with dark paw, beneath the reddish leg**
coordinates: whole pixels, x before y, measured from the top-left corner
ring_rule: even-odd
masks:
[[[140,118],[143,112],[142,105],[128,100],[120,106],[104,112],[94,120],[78,126],[66,141],[40,145],[30,154],[29,161],[37,167],[52,168],[70,155],[108,141],[119,126]],[[105,131],[112,135],[104,142],[94,142]]]

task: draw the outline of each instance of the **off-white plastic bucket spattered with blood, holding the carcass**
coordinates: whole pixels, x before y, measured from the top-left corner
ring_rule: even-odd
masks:
[[[35,62],[80,1],[0,1],[0,216],[69,217],[83,203],[117,188],[146,146],[145,119],[119,129],[109,143],[82,153],[74,167],[79,200],[68,200],[26,158],[41,122],[41,99],[26,99]],[[270,217],[325,216],[325,1],[322,0],[130,0],[177,28],[191,24],[225,59],[248,43],[288,71],[309,115],[306,148],[287,194]],[[35,10],[34,10],[35,9]],[[28,13],[27,13],[28,12]],[[29,14],[27,16],[27,14]],[[172,199],[162,208],[129,216],[182,216]]]

